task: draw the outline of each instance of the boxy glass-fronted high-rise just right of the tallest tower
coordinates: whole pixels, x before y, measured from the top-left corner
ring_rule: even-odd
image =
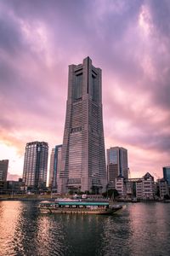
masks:
[[[115,187],[116,177],[128,178],[127,149],[112,147],[107,149],[107,177],[108,183]]]

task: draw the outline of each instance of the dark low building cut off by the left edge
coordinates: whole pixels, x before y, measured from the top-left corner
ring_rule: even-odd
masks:
[[[0,189],[7,187],[8,160],[0,160]]]

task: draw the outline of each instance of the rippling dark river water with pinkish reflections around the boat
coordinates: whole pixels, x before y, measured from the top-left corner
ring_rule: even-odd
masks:
[[[114,216],[41,214],[0,201],[0,256],[170,255],[170,204],[135,203]]]

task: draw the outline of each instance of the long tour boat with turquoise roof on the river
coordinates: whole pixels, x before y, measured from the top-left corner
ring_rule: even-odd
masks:
[[[109,201],[41,201],[39,209],[42,213],[81,213],[111,215],[122,209],[120,205]]]

